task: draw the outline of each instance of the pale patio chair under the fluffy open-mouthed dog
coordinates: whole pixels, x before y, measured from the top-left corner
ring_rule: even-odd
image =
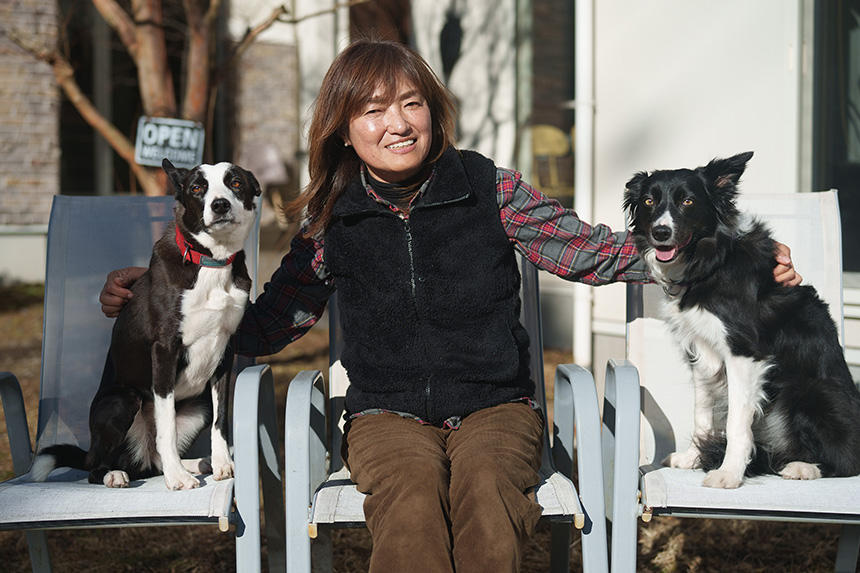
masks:
[[[804,277],[830,305],[842,333],[842,249],[836,192],[742,195],[739,207],[791,247]],[[627,357],[610,362],[604,402],[604,463],[613,571],[636,569],[637,517],[708,517],[842,525],[836,570],[855,571],[860,476],[812,481],[748,478],[738,489],[703,487],[702,470],[660,467],[693,433],[693,384],[657,307],[659,287],[628,286]],[[634,366],[635,365],[635,366]],[[641,433],[640,433],[641,410]],[[858,421],[860,423],[860,421]],[[614,470],[612,467],[614,466]],[[766,548],[763,548],[766,549]]]

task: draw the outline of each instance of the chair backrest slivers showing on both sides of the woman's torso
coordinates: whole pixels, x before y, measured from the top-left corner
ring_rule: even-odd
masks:
[[[535,400],[541,406],[546,418],[546,396],[544,391],[543,375],[543,335],[541,332],[540,317],[540,293],[538,288],[538,269],[523,257],[518,257],[520,262],[520,298],[522,308],[520,320],[529,333],[529,358],[531,378],[535,383]],[[341,459],[341,443],[343,440],[343,412],[344,396],[349,387],[349,378],[346,369],[340,363],[340,353],[343,348],[343,340],[340,334],[337,294],[329,299],[329,440],[331,443],[331,471],[335,472],[343,467]],[[544,426],[544,448],[542,470],[548,472],[552,463],[550,461],[549,433]]]

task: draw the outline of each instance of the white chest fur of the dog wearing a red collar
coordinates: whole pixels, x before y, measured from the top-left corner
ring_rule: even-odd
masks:
[[[247,302],[248,293],[233,284],[230,267],[200,269],[194,287],[182,296],[180,334],[188,365],[176,382],[177,400],[203,391]]]

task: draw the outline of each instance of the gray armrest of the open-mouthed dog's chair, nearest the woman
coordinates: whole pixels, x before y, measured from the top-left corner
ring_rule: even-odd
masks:
[[[606,365],[603,459],[612,520],[610,562],[636,564],[639,506],[639,372],[626,360]],[[611,492],[611,495],[610,495]]]

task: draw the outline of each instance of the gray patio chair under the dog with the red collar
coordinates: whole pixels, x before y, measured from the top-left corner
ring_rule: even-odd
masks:
[[[113,321],[98,295],[111,269],[146,266],[153,243],[172,219],[172,197],[57,196],[48,230],[37,451],[56,443],[89,446],[89,407],[101,379]],[[255,277],[257,237],[246,245]],[[238,361],[237,361],[238,362]],[[235,382],[233,419],[235,478],[189,491],[169,491],[156,476],[125,489],[87,483],[86,472],[57,468],[48,481],[27,475],[33,451],[20,386],[0,374],[9,445],[16,477],[0,484],[0,530],[25,530],[34,571],[50,570],[45,530],[211,523],[233,524],[236,569],[260,571],[260,483],[270,570],[283,568],[283,497],[276,458],[272,376],[249,366]],[[193,456],[208,456],[209,435]],[[258,452],[262,452],[262,456]],[[259,469],[258,469],[259,467]]]

